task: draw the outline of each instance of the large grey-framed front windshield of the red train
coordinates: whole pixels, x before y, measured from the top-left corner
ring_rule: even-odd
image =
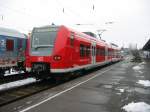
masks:
[[[49,55],[52,52],[57,31],[58,27],[34,28],[31,39],[32,54]]]

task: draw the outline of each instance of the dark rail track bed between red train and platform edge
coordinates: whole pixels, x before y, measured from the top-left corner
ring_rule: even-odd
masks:
[[[111,64],[109,64],[110,66]],[[104,68],[108,65],[97,67],[95,69],[88,70],[84,72],[84,75],[90,74],[94,71],[97,71],[101,68]],[[62,83],[65,83],[67,81],[71,81],[75,78],[84,76],[83,73],[79,73],[79,75],[76,75],[76,77],[71,77],[69,79],[64,79],[60,81],[54,81],[52,78],[36,81],[34,83],[31,83],[29,85],[24,85],[15,89],[10,89],[7,91],[0,91],[0,107],[7,105],[9,103],[18,101],[20,99],[26,98],[28,96],[34,95],[36,93],[51,89],[53,87],[56,87]],[[14,76],[15,78],[15,76]],[[24,76],[20,76],[20,78],[24,78]],[[8,79],[9,81],[9,79]]]

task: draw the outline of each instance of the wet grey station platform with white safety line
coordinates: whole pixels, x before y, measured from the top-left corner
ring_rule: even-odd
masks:
[[[131,102],[150,104],[150,60],[126,59],[0,108],[0,112],[126,112]]]

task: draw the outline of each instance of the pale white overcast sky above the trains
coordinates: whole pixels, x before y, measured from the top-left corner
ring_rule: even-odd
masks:
[[[150,38],[150,0],[0,0],[0,27],[28,33],[52,22],[78,31],[106,29],[107,42],[141,48]]]

